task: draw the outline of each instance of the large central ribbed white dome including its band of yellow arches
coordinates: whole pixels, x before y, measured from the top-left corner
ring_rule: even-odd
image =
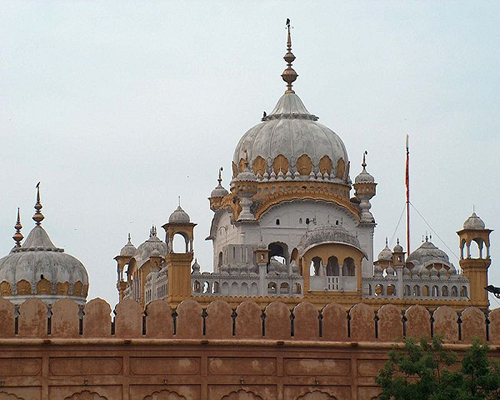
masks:
[[[240,139],[233,156],[233,173],[249,166],[258,175],[290,172],[292,176],[338,179],[348,183],[348,155],[331,129],[317,122],[295,93],[285,93],[271,114]]]

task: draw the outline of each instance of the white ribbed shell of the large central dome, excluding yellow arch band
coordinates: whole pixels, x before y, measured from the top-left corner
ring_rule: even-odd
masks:
[[[233,156],[234,166],[240,171],[240,160],[246,159],[248,151],[250,167],[257,157],[262,157],[267,164],[267,171],[273,160],[284,156],[295,173],[295,165],[299,157],[307,155],[313,164],[313,171],[318,172],[319,162],[328,156],[336,171],[337,162],[343,159],[347,168],[348,155],[344,143],[335,132],[316,122],[318,118],[311,115],[299,96],[285,93],[271,114],[264,117],[263,122],[251,128],[240,139]],[[303,176],[302,179],[309,179]]]

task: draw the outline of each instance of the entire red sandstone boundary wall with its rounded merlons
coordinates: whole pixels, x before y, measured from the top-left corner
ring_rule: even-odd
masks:
[[[85,307],[0,298],[0,400],[376,399],[375,377],[403,337],[441,335],[463,351],[480,338],[500,358],[500,309],[414,305],[292,310],[189,299],[144,311],[133,300]]]

